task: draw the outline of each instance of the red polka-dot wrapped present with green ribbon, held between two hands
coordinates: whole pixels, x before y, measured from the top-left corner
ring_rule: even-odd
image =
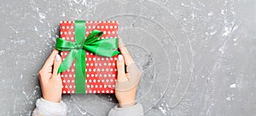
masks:
[[[61,21],[62,94],[114,93],[117,37],[117,21]]]

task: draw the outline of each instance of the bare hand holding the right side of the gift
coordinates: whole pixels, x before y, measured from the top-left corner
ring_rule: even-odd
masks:
[[[141,72],[122,42],[119,42],[119,50],[122,55],[119,54],[117,61],[118,79],[115,87],[115,96],[119,101],[119,107],[129,107],[135,104],[137,84],[140,80]]]

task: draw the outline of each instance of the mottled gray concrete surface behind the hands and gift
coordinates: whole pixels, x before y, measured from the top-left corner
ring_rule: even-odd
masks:
[[[0,115],[30,115],[60,20],[119,21],[143,77],[146,116],[256,115],[255,0],[1,0]],[[106,115],[109,95],[66,95],[68,115]]]

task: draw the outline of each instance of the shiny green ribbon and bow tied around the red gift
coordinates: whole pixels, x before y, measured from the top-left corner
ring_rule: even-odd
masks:
[[[118,52],[118,38],[99,39],[103,33],[101,30],[92,30],[85,37],[85,21],[75,20],[75,42],[66,41],[61,38],[56,40],[56,49],[69,51],[67,57],[62,61],[58,73],[70,68],[75,59],[75,93],[85,93],[85,50],[104,57],[113,57]]]

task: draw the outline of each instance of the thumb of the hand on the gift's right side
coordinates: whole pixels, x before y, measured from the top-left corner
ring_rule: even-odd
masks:
[[[119,81],[125,81],[127,80],[125,76],[125,62],[124,58],[121,54],[118,56],[118,61],[117,61],[117,69],[118,69],[118,80]]]

